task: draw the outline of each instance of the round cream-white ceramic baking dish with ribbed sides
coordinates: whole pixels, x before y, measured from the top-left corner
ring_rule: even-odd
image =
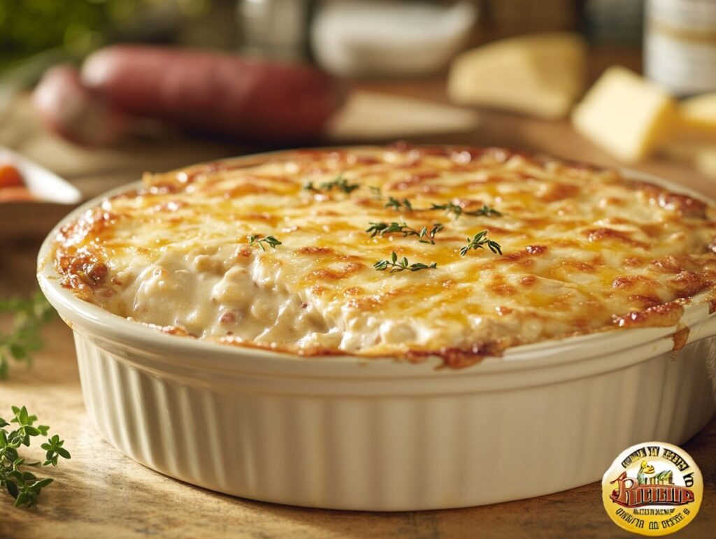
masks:
[[[56,232],[39,283],[74,331],[89,416],[126,455],[212,490],[355,510],[516,500],[598,480],[637,442],[684,442],[716,409],[708,304],[687,306],[678,328],[519,346],[459,370],[301,359],[163,334],[79,300],[46,263]]]

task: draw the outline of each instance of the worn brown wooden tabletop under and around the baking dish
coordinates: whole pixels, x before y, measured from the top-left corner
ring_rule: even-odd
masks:
[[[366,87],[445,99],[440,81]],[[488,111],[482,115],[481,125],[472,132],[422,137],[416,142],[508,145],[617,164],[571,130],[566,121],[528,120]],[[14,147],[64,175],[88,196],[135,180],[144,170],[168,170],[253,150],[246,145],[198,140],[173,132],[162,137],[137,137],[112,149],[81,149],[47,135],[26,96],[0,119],[0,144]],[[716,196],[716,182],[684,165],[651,160],[636,168]],[[26,216],[28,230],[33,220],[42,220],[42,211],[38,206],[36,213]],[[0,235],[0,297],[32,290],[40,239],[37,233]],[[8,328],[9,321],[0,319],[0,332]],[[72,460],[49,470],[47,475],[56,482],[43,492],[37,508],[14,509],[0,494],[0,538],[633,537],[606,516],[597,483],[531,500],[415,513],[292,508],[187,485],[142,467],[100,439],[84,412],[69,329],[55,320],[47,327],[45,337],[46,346],[35,357],[33,368],[13,365],[9,379],[0,382],[0,416],[9,412],[11,404],[26,404],[67,440]],[[716,529],[716,421],[712,420],[684,448],[701,467],[705,491],[700,514],[679,532],[679,537],[712,537]]]

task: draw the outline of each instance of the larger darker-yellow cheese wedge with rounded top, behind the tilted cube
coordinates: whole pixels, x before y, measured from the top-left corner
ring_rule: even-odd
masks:
[[[463,105],[554,119],[569,113],[585,76],[586,44],[578,34],[531,34],[460,54],[450,67],[448,94]]]

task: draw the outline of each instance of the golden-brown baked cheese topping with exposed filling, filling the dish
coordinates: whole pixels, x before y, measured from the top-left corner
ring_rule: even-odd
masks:
[[[359,188],[320,187],[339,175]],[[120,316],[231,344],[460,366],[518,344],[671,326],[716,283],[714,208],[615,170],[499,148],[295,150],[144,183],[62,228],[64,286]],[[413,210],[387,208],[391,196]],[[504,215],[427,209],[450,202]],[[366,232],[401,218],[445,228],[434,245]],[[481,230],[502,256],[460,255]],[[263,251],[252,235],[281,245]],[[437,267],[374,269],[394,251]]]

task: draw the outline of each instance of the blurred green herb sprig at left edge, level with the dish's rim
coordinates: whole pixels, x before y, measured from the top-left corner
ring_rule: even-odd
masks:
[[[31,364],[32,352],[42,348],[42,326],[52,318],[54,309],[42,292],[31,298],[0,299],[0,314],[14,314],[9,334],[0,334],[0,380],[7,378],[10,359]]]

